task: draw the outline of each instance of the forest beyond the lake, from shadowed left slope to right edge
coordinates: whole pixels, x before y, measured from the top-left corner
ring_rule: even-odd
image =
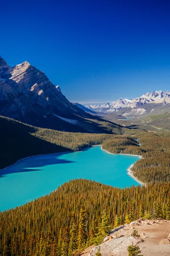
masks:
[[[79,151],[102,144],[102,148],[111,153],[142,155],[142,159],[133,166],[134,176],[142,182],[170,182],[170,133],[127,128],[122,131],[122,135],[70,133],[0,117],[0,169],[24,157]]]

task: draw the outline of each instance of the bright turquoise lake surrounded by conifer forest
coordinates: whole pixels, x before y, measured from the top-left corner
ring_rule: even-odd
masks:
[[[127,174],[139,157],[109,154],[95,146],[80,152],[48,154],[20,160],[0,170],[0,211],[47,195],[75,178],[121,187],[139,185]]]

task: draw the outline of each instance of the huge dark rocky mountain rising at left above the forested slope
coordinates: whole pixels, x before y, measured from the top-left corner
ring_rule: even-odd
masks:
[[[0,115],[60,131],[111,133],[103,119],[69,102],[44,72],[28,61],[8,66],[1,57]]]

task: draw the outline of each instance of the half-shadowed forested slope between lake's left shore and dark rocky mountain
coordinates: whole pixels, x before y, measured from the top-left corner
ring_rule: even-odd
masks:
[[[79,151],[101,144],[111,134],[85,134],[37,128],[0,116],[0,169],[39,154]]]

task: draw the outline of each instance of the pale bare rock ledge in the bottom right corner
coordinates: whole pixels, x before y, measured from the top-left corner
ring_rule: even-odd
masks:
[[[134,229],[139,237],[131,236]],[[170,221],[139,219],[113,229],[102,244],[87,248],[81,255],[95,256],[100,247],[102,256],[128,256],[127,247],[133,242],[144,256],[170,256],[169,230]]]

